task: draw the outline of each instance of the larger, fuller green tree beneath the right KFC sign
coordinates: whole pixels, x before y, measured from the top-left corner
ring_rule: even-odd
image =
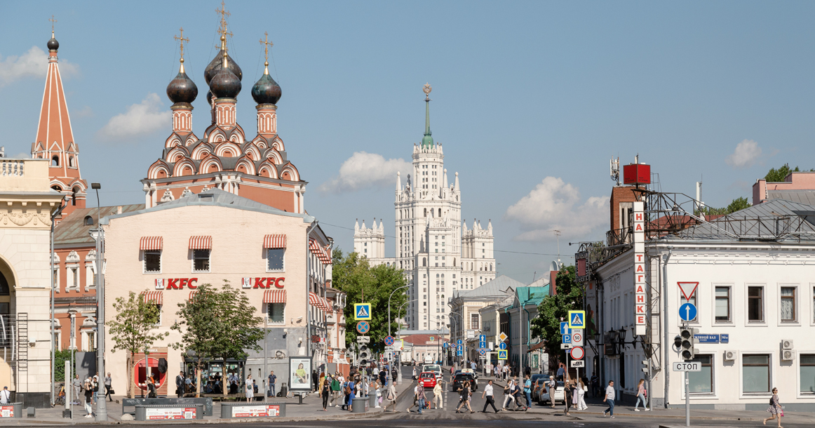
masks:
[[[264,330],[258,327],[262,317],[241,289],[233,289],[224,280],[223,288],[203,284],[189,302],[178,303],[178,315],[170,329],[181,333],[176,350],[192,352],[196,358],[196,395],[200,393],[200,373],[207,360],[243,360],[246,350],[262,351],[258,341]]]

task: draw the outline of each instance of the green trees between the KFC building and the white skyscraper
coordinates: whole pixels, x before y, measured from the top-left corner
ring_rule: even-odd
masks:
[[[356,319],[354,317],[355,303],[371,303],[372,318],[369,321],[371,331],[366,336],[371,338],[368,347],[374,352],[385,349],[385,337],[388,335],[388,298],[390,298],[390,329],[391,333],[399,331],[399,324],[393,320],[405,315],[407,305],[407,285],[403,270],[381,264],[371,267],[368,258],[359,257],[359,254],[349,253],[343,256],[340,249],[333,252],[332,285],[348,296],[346,300],[346,346],[356,342]],[[395,291],[399,289],[399,291]],[[364,298],[364,300],[363,300]],[[400,311],[401,307],[401,311]]]

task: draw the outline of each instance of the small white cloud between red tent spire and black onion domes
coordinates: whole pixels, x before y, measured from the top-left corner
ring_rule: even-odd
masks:
[[[99,130],[99,136],[108,140],[130,139],[147,135],[156,130],[170,131],[173,116],[169,110],[162,110],[164,104],[155,93],[148,94],[141,103],[127,108],[126,113],[111,117],[108,124]]]

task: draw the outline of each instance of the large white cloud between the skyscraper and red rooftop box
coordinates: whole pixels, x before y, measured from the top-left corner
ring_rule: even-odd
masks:
[[[504,214],[521,225],[516,240],[553,240],[553,230],[567,238],[584,237],[608,222],[608,216],[608,197],[592,196],[580,204],[579,189],[555,177],[546,177]]]

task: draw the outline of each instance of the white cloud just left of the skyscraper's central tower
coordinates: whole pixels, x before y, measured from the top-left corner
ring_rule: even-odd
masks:
[[[402,183],[407,183],[410,162],[404,159],[388,159],[377,153],[355,152],[342,162],[340,173],[319,186],[320,192],[354,192],[363,188],[382,186],[396,187],[396,173],[402,173]]]

